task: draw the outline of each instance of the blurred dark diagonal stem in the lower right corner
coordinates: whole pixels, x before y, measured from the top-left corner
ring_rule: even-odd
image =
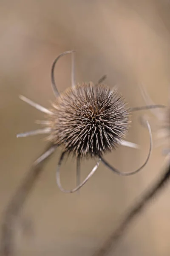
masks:
[[[123,235],[125,235],[125,231],[131,224],[131,221],[133,221],[137,217],[137,215],[139,215],[139,213],[141,213],[142,210],[145,209],[153,196],[156,196],[156,194],[163,188],[163,186],[169,181],[169,179],[170,163],[164,174],[159,178],[158,181],[156,181],[156,183],[151,185],[150,188],[146,192],[144,192],[142,198],[138,202],[136,202],[133,207],[130,208],[129,213],[127,213],[126,217],[116,229],[116,231],[114,231],[111,236],[109,236],[109,238],[105,241],[102,247],[97,250],[93,254],[93,256],[106,256],[111,250],[113,252],[119,241],[122,239]]]

